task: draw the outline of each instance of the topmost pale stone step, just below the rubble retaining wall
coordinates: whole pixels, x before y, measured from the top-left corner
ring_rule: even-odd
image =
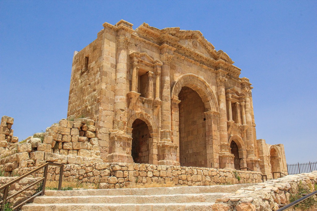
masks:
[[[127,189],[88,189],[88,190],[45,190],[46,196],[82,196],[82,195],[168,195],[195,193],[232,193],[240,188],[253,184],[212,185],[212,186],[183,186],[160,188],[127,188]]]

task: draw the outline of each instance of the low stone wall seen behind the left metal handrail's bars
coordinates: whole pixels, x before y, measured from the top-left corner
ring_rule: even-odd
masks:
[[[9,183],[16,178],[17,177],[0,177],[0,186],[4,185],[6,183]],[[26,178],[21,179],[17,183],[13,183],[12,185],[10,185],[8,196],[15,194],[17,191],[27,187],[28,185],[38,181],[39,179],[40,178],[26,177]],[[42,182],[40,182],[40,183],[42,183]],[[26,200],[27,198],[29,198],[30,196],[34,195],[36,193],[37,187],[38,187],[38,185],[35,185],[35,186],[23,191],[22,193],[14,196],[13,198],[8,200],[7,202],[9,202],[12,207],[14,207],[14,206],[18,205],[19,203],[23,202],[24,200]]]

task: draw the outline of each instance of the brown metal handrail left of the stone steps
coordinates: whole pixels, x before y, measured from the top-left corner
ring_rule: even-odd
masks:
[[[31,199],[35,198],[36,196],[38,196],[38,195],[44,195],[44,192],[45,192],[45,184],[46,184],[46,178],[47,178],[47,171],[48,171],[48,166],[49,166],[49,165],[61,167],[61,168],[60,168],[60,177],[59,177],[59,182],[58,182],[58,190],[61,190],[61,183],[62,183],[63,173],[64,173],[64,164],[47,162],[47,163],[45,163],[45,164],[43,164],[43,165],[40,165],[40,166],[37,167],[36,169],[33,169],[32,171],[29,171],[28,173],[26,173],[26,174],[24,174],[24,175],[22,175],[22,176],[20,176],[20,177],[18,177],[18,178],[16,178],[16,179],[14,179],[14,180],[12,180],[11,182],[6,183],[6,184],[4,184],[3,186],[0,187],[0,191],[4,189],[4,191],[3,191],[3,197],[2,197],[2,199],[1,199],[1,201],[0,201],[0,205],[1,205],[0,211],[3,211],[4,205],[5,205],[5,203],[7,202],[7,200],[11,199],[12,197],[14,197],[14,196],[16,196],[16,195],[22,193],[24,190],[27,190],[27,189],[29,189],[30,187],[32,187],[32,186],[34,186],[34,185],[36,185],[37,183],[40,183],[40,182],[42,182],[42,181],[43,181],[43,185],[42,185],[42,190],[41,190],[40,192],[38,192],[38,193],[36,193],[35,195],[29,197],[28,199],[26,199],[25,201],[23,201],[23,202],[21,202],[20,204],[16,205],[16,206],[15,206],[14,208],[12,208],[12,209],[13,209],[13,210],[16,210],[16,209],[18,209],[19,207],[21,207],[23,204],[25,204],[26,202],[29,202]],[[41,179],[37,180],[36,182],[30,184],[29,186],[23,188],[22,190],[17,191],[16,193],[14,193],[14,194],[12,194],[12,195],[10,195],[10,196],[8,197],[8,192],[9,192],[9,187],[10,187],[10,185],[12,185],[12,184],[14,184],[14,183],[20,181],[21,179],[23,179],[23,178],[25,178],[25,177],[27,177],[27,176],[29,176],[29,175],[31,175],[31,174],[37,172],[37,171],[40,171],[42,168],[44,168],[44,174],[43,174],[43,177],[42,177]]]

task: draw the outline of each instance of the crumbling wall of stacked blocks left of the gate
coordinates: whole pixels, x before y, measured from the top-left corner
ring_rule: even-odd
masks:
[[[9,130],[7,127],[3,129],[5,124],[11,127],[13,118],[2,117],[2,131]],[[24,143],[17,143],[17,137],[9,136],[11,138],[1,141],[2,146],[6,147],[0,148],[0,169],[3,169],[5,176],[10,176],[15,169],[40,166],[46,162],[83,164],[102,161],[95,132],[93,120],[80,118],[62,119],[48,127],[45,133],[28,137]]]

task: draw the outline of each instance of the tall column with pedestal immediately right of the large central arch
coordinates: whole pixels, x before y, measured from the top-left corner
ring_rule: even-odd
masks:
[[[223,76],[218,76],[217,80],[217,93],[219,103],[219,138],[220,138],[220,152],[219,152],[219,167],[234,168],[233,157],[229,152],[228,143],[228,128],[227,128],[227,108],[226,108],[226,94],[224,83],[227,79]]]

